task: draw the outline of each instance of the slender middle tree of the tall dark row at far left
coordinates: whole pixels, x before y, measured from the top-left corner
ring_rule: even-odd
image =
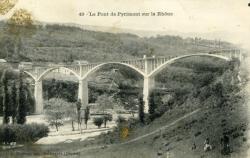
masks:
[[[10,97],[10,111],[12,117],[12,123],[16,123],[16,116],[17,116],[17,93],[16,93],[16,84],[13,83],[11,87],[11,97]]]

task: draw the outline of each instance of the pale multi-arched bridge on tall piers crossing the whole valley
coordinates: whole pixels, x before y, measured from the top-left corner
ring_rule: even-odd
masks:
[[[73,74],[78,82],[78,99],[81,100],[83,105],[88,105],[88,76],[96,72],[98,69],[106,65],[118,64],[127,67],[143,77],[143,100],[144,100],[144,112],[148,113],[149,109],[149,94],[154,87],[154,76],[159,74],[164,68],[170,64],[184,58],[201,56],[219,58],[222,60],[230,61],[233,58],[237,58],[240,61],[243,59],[242,53],[239,50],[221,50],[210,53],[188,54],[175,57],[146,57],[141,59],[133,59],[117,62],[103,62],[103,63],[90,63],[90,64],[72,64],[72,65],[55,65],[55,66],[43,66],[23,71],[28,74],[35,81],[34,97],[35,97],[35,113],[43,113],[43,92],[42,92],[42,80],[44,77],[52,71],[57,69],[63,69]]]

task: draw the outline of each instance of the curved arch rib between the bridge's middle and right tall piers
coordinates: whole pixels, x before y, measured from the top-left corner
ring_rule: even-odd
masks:
[[[82,76],[81,80],[87,78],[88,75],[94,73],[99,68],[101,68],[101,67],[103,67],[105,65],[110,65],[110,64],[122,65],[122,66],[128,67],[128,68],[130,68],[132,70],[135,70],[136,72],[138,72],[139,74],[141,74],[143,77],[146,76],[143,71],[141,71],[140,69],[138,69],[138,68],[136,68],[136,67],[134,67],[132,65],[129,65],[129,64],[126,64],[126,63],[121,63],[121,62],[108,62],[108,63],[102,63],[102,64],[99,64],[99,65],[95,66],[94,68],[92,68],[91,70],[89,70],[86,74],[84,74],[84,76]]]

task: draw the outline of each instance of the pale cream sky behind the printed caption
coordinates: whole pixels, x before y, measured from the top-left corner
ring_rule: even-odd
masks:
[[[250,0],[19,0],[35,20],[155,32],[214,35],[250,50]],[[173,16],[79,16],[80,12],[173,12]],[[213,37],[213,36],[212,36]]]

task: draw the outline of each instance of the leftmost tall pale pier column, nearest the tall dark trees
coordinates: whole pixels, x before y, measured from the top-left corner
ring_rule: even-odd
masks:
[[[42,81],[35,81],[35,113],[43,113],[43,84]]]

